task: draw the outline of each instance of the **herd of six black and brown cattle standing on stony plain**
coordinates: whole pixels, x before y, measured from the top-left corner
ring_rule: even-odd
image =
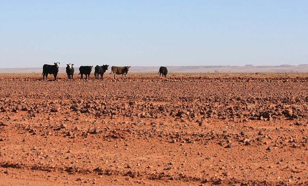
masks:
[[[100,78],[103,79],[104,73],[106,72],[106,70],[108,70],[108,66],[109,65],[107,65],[107,64],[102,65],[102,66],[96,65],[95,71],[94,71],[95,78],[98,79],[99,75],[100,75]],[[44,64],[43,65],[43,73],[42,73],[43,80],[45,80],[45,77],[47,79],[48,74],[53,74],[55,79],[57,79],[59,67],[60,67],[60,62],[55,62],[53,65]],[[92,67],[93,66],[80,66],[79,67],[80,79],[83,79],[83,74],[85,75],[85,79],[90,79],[90,73],[92,71]],[[122,74],[122,79],[124,80],[124,76],[125,76],[125,79],[127,78],[126,75],[127,75],[130,67],[131,66],[112,66],[110,74],[112,74],[113,79],[115,79],[115,74],[118,74],[118,75]],[[75,71],[74,70],[74,64],[71,64],[71,63],[67,64],[66,73],[68,75],[68,79],[74,78],[73,77],[74,71]],[[167,73],[168,73],[167,67],[160,66],[158,73],[159,73],[159,77],[160,77],[160,75],[166,77]]]

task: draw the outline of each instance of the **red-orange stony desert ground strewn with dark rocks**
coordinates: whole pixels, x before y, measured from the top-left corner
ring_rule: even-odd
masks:
[[[308,185],[308,73],[0,74],[0,185]]]

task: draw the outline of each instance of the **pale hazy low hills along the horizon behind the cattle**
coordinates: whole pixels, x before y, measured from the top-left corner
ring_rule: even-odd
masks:
[[[75,67],[75,73],[79,73]],[[167,66],[169,72],[308,72],[308,64],[279,66]],[[158,72],[159,66],[132,66],[130,72]],[[109,67],[108,72],[110,72]],[[65,67],[60,67],[60,73],[65,73]],[[107,73],[108,73],[107,72]],[[42,68],[0,68],[0,73],[42,73]],[[94,67],[92,68],[94,73]]]

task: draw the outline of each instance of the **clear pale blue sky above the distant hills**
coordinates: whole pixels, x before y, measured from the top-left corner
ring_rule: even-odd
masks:
[[[308,0],[0,0],[0,68],[308,63]]]

